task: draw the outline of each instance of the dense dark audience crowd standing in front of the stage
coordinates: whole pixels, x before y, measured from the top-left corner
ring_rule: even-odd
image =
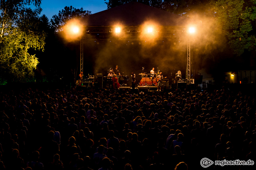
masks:
[[[2,91],[0,169],[190,170],[203,169],[202,158],[256,161],[253,94],[168,92]]]

